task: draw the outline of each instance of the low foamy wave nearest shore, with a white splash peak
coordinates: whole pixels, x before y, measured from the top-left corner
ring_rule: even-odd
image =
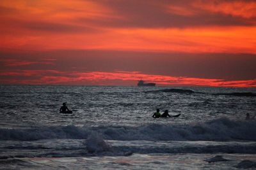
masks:
[[[114,142],[114,143],[113,143]],[[145,144],[145,143],[146,144]],[[255,143],[214,143],[196,144],[196,143],[157,143],[151,141],[148,145],[147,141],[132,141],[136,145],[129,145],[129,143],[122,143],[122,145],[115,145],[115,141],[106,141],[100,135],[90,136],[84,140],[83,145],[76,145],[68,147],[58,143],[58,146],[51,146],[44,148],[38,145],[28,146],[24,148],[15,148],[19,152],[8,152],[0,155],[1,159],[8,159],[12,157],[83,157],[83,156],[128,156],[133,153],[256,153]],[[1,148],[3,150],[3,148]]]

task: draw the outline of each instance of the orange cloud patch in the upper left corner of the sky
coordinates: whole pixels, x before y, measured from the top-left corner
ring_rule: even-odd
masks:
[[[72,22],[76,17],[105,18],[111,12],[106,6],[94,1],[8,1],[2,0],[1,8],[9,10],[4,17],[23,18],[24,20],[58,20],[59,22]],[[28,18],[29,17],[29,18]]]

